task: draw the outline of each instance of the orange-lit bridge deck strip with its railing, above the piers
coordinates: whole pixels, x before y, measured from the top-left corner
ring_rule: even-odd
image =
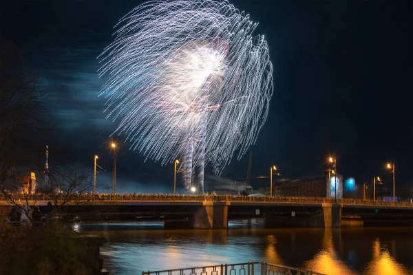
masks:
[[[45,206],[49,201],[63,202],[67,205],[147,205],[147,206],[202,206],[207,203],[224,202],[227,206],[250,205],[250,206],[322,206],[323,203],[340,204],[343,208],[400,208],[413,209],[413,203],[407,201],[372,201],[360,199],[326,199],[315,197],[242,197],[242,196],[211,196],[211,195],[72,195],[70,198],[64,196],[47,195],[14,195],[12,198],[16,203],[27,201],[30,205]],[[0,197],[0,205],[13,205],[10,199]]]

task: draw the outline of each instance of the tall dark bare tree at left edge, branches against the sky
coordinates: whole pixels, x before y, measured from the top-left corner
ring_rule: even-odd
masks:
[[[35,76],[23,69],[23,58],[12,43],[0,41],[0,191],[17,181],[21,170],[28,170],[32,151],[42,144],[46,131],[45,91]],[[18,188],[19,186],[17,186]]]

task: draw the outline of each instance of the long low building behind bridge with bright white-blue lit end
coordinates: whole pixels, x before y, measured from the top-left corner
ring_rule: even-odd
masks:
[[[337,178],[337,180],[336,180]],[[343,197],[343,177],[318,175],[301,179],[282,179],[273,181],[273,196],[282,197],[327,197],[341,199]],[[336,192],[337,187],[337,192]],[[267,194],[269,194],[267,188]]]

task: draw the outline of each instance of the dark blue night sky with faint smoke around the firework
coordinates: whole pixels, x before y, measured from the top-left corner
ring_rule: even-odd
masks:
[[[112,42],[113,27],[141,1],[20,1],[0,4],[1,37],[14,42],[25,64],[49,91],[45,104],[55,131],[50,165],[82,164],[93,157],[112,183],[105,120],[104,79],[98,54]],[[284,177],[319,175],[328,155],[339,173],[356,183],[381,175],[396,162],[396,185],[412,184],[412,2],[233,0],[260,23],[274,65],[274,94],[266,124],[254,146],[252,177],[268,175],[272,164]],[[116,137],[122,141],[124,137]],[[39,157],[43,152],[39,151]],[[171,192],[173,164],[161,167],[122,144],[118,192]],[[222,179],[246,177],[248,154],[233,159]],[[207,167],[211,175],[211,168]],[[253,186],[266,186],[255,179]],[[181,185],[182,186],[182,185]]]

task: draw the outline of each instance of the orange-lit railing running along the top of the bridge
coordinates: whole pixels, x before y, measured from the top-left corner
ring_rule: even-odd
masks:
[[[60,194],[12,194],[9,197],[0,196],[0,200],[8,201],[60,201],[64,195]],[[362,199],[328,199],[321,197],[246,197],[240,195],[163,195],[163,194],[71,194],[70,201],[214,201],[214,202],[285,202],[285,203],[342,203],[345,205],[363,206],[413,206],[410,201],[372,201]]]

